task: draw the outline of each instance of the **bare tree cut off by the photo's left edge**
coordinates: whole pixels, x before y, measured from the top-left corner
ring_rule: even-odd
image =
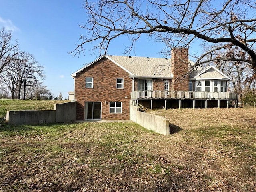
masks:
[[[0,74],[18,54],[18,43],[12,43],[12,32],[0,29]]]

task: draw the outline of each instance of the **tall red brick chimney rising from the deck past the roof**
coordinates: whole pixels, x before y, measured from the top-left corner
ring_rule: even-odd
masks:
[[[172,91],[188,91],[188,48],[171,50]]]

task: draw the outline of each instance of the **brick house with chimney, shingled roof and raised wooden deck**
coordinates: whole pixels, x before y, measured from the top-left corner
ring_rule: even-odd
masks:
[[[141,108],[228,106],[225,74],[213,66],[188,73],[187,48],[173,48],[171,58],[102,56],[77,70],[74,98],[78,120],[129,119],[130,100]]]

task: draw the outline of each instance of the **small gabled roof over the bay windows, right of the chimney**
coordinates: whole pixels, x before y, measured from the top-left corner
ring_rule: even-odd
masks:
[[[223,79],[223,80],[230,80],[228,76],[222,73],[214,66],[208,66],[205,69],[193,71],[190,74],[190,79]]]

